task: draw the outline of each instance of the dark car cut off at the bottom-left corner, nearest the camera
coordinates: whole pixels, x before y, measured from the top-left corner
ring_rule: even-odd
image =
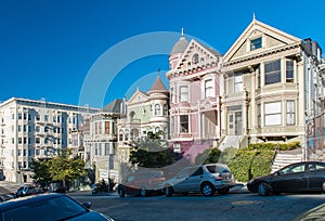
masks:
[[[113,220],[102,213],[90,210],[90,202],[81,205],[64,194],[39,194],[1,203],[0,220]]]

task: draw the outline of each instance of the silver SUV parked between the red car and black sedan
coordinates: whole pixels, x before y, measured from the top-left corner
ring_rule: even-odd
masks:
[[[182,169],[174,178],[164,183],[164,192],[166,196],[191,192],[211,196],[216,191],[227,194],[234,185],[234,176],[226,165],[209,164]]]

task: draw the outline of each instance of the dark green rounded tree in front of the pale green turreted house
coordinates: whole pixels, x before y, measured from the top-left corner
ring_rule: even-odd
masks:
[[[161,168],[176,161],[177,155],[161,140],[162,131],[147,132],[147,136],[135,143],[130,153],[130,162],[145,168]]]

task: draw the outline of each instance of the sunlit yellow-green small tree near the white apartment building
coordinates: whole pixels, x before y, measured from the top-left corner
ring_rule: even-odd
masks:
[[[70,150],[61,150],[56,157],[52,158],[49,173],[53,181],[62,181],[65,190],[66,182],[84,177],[84,162],[80,157],[70,157]]]

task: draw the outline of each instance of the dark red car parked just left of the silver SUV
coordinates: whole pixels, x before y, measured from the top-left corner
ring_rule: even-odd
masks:
[[[147,196],[152,193],[162,193],[164,172],[160,170],[136,170],[128,173],[117,186],[120,197],[126,195]]]

